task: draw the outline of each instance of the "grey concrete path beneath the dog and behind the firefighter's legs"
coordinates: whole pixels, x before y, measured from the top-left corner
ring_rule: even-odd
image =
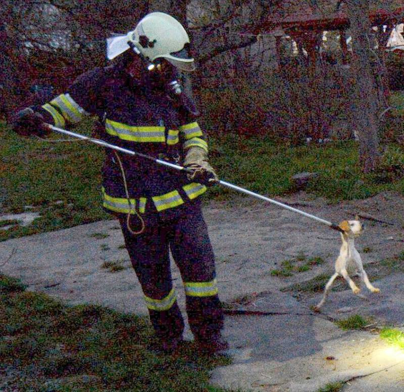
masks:
[[[360,251],[372,248],[371,253],[362,254],[366,264],[404,251],[400,221],[404,203],[399,199],[397,204],[395,196],[391,200],[394,207],[388,204],[389,195],[363,201],[362,205],[350,202],[328,206],[321,201],[302,200],[298,195],[288,202],[337,222],[351,218],[361,206],[363,211],[391,221],[372,222],[358,239]],[[360,314],[377,326],[402,327],[402,273],[376,280],[374,285],[381,288],[379,295],[364,290],[361,298],[349,290],[332,292],[323,313],[314,314],[310,306],[318,302],[321,293],[298,302],[280,289],[321,273],[331,275],[340,246],[338,233],[289,211],[244,199],[230,210],[212,204],[204,213],[217,257],[221,300],[240,304],[239,310],[262,314],[226,316],[224,333],[233,364],[213,372],[213,385],[317,392],[329,383],[347,381],[342,391],[404,390],[402,352],[370,330],[342,331],[330,321]],[[0,271],[21,278],[29,290],[45,292],[69,304],[93,303],[146,314],[123,243],[116,221],[12,239],[0,242]],[[288,278],[271,275],[282,260],[301,253],[322,257],[326,263]],[[123,269],[110,272],[102,268],[106,262],[115,262]],[[182,282],[175,266],[173,277],[184,310]],[[191,338],[189,331],[186,338]]]

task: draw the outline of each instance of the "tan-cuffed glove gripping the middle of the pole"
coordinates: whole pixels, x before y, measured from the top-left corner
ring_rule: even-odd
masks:
[[[189,169],[186,175],[190,181],[207,186],[213,186],[219,182],[219,177],[208,162],[208,154],[200,147],[194,146],[188,150],[183,165]]]

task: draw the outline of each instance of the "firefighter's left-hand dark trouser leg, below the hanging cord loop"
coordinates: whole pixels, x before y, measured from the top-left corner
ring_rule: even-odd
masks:
[[[142,234],[132,235],[126,218],[119,221],[157,336],[163,339],[181,336],[184,322],[172,286],[166,229],[146,226]]]

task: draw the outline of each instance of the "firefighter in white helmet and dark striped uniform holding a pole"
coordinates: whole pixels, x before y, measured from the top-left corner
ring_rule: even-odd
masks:
[[[200,195],[218,177],[197,110],[180,83],[180,72],[194,69],[188,34],[176,19],[155,12],[107,46],[112,65],[82,74],[50,102],[20,111],[13,128],[20,135],[45,135],[46,123],[66,127],[95,115],[106,141],[189,169],[177,172],[107,150],[103,207],[119,219],[160,349],[176,350],[184,329],[171,251],[199,350],[223,351],[228,345],[221,334],[215,260],[200,208]]]

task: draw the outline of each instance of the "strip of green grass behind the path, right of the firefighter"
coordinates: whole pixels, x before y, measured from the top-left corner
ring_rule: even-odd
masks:
[[[391,147],[392,157],[402,156],[402,148]],[[404,192],[403,178],[387,181],[385,176],[389,173],[384,171],[366,175],[361,172],[355,141],[290,147],[269,138],[242,139],[231,135],[220,140],[211,137],[210,149],[213,166],[227,181],[272,197],[293,192],[291,177],[303,171],[320,174],[307,190],[331,203],[364,199],[385,190]],[[392,159],[395,164],[396,158]],[[232,193],[227,188],[215,187],[209,194],[224,200]]]

